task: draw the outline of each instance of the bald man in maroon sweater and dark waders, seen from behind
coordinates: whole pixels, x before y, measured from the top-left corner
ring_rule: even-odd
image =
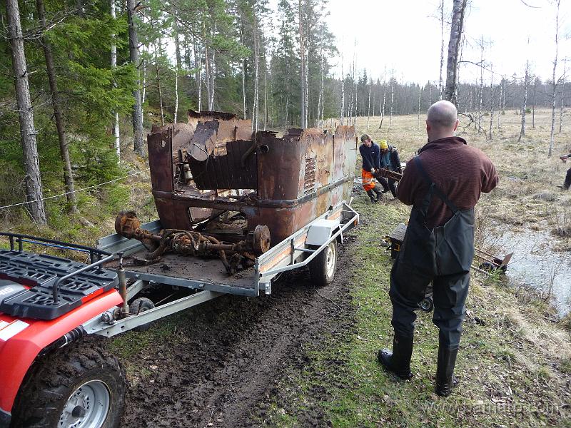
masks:
[[[474,206],[497,185],[494,165],[482,151],[455,136],[458,113],[438,101],[428,109],[428,143],[407,163],[398,185],[401,202],[413,205],[400,252],[390,272],[393,352],[378,360],[385,370],[410,379],[415,310],[433,282],[433,322],[438,327],[436,393],[456,384],[454,366],[474,257]]]

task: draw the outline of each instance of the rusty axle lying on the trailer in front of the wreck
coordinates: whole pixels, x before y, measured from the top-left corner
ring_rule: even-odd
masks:
[[[164,229],[161,235],[155,235],[140,225],[136,213],[122,211],[115,220],[115,231],[125,238],[141,241],[151,252],[148,260],[158,261],[167,252],[196,257],[218,254],[230,275],[253,265],[256,256],[266,253],[271,244],[270,230],[265,225],[257,225],[246,240],[237,243],[223,243],[196,230]]]

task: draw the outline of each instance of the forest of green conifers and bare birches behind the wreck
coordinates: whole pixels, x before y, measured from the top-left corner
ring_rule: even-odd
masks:
[[[450,3],[465,8],[467,2]],[[395,68],[373,78],[355,56],[343,58],[325,19],[327,1],[273,5],[276,9],[267,0],[6,0],[0,9],[0,218],[6,228],[47,224],[51,231],[44,235],[73,238],[74,229],[126,208],[133,193],[130,179],[146,174],[144,130],[184,122],[188,109],[251,118],[253,131],[355,124],[363,116],[377,116],[374,123],[367,121],[368,129],[390,130],[393,115],[415,113],[420,124],[420,115],[443,98],[453,12],[444,0],[432,18],[442,39],[435,46],[440,76],[426,82],[404,81]],[[557,54],[557,38],[565,37],[558,33],[559,1],[550,7],[551,79],[534,76],[529,61],[512,76],[498,75],[486,61],[489,44],[483,37],[480,61],[473,63],[479,78],[458,76],[458,109],[487,138],[507,110],[522,116],[525,134],[526,113],[535,127],[535,109],[551,108],[550,148],[557,126],[561,129],[571,86],[565,55]],[[14,16],[21,34],[12,33]],[[18,72],[16,42],[25,55]],[[342,78],[335,77],[335,67]],[[29,84],[24,113],[33,115],[29,128],[19,108],[23,78]],[[22,136],[34,138],[37,154],[26,151]],[[34,156],[37,178],[26,163]],[[30,191],[34,180],[36,193]],[[137,208],[152,211],[152,205],[147,196]],[[61,236],[64,230],[67,237]]]

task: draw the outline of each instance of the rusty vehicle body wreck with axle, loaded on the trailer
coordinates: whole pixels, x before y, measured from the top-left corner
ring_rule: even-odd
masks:
[[[147,143],[153,198],[171,238],[137,231],[134,213],[118,216],[117,233],[155,255],[218,252],[228,273],[349,200],[353,187],[350,126],[290,128],[279,138],[231,113],[188,111],[188,123],[153,127]],[[225,252],[241,258],[228,267]]]

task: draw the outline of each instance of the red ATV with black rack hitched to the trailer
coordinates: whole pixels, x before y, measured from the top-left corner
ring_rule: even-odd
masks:
[[[0,427],[117,426],[123,370],[97,340],[79,340],[90,320],[123,303],[119,275],[101,267],[116,255],[1,235],[11,250],[0,250]],[[91,263],[26,253],[24,242],[79,250]]]

